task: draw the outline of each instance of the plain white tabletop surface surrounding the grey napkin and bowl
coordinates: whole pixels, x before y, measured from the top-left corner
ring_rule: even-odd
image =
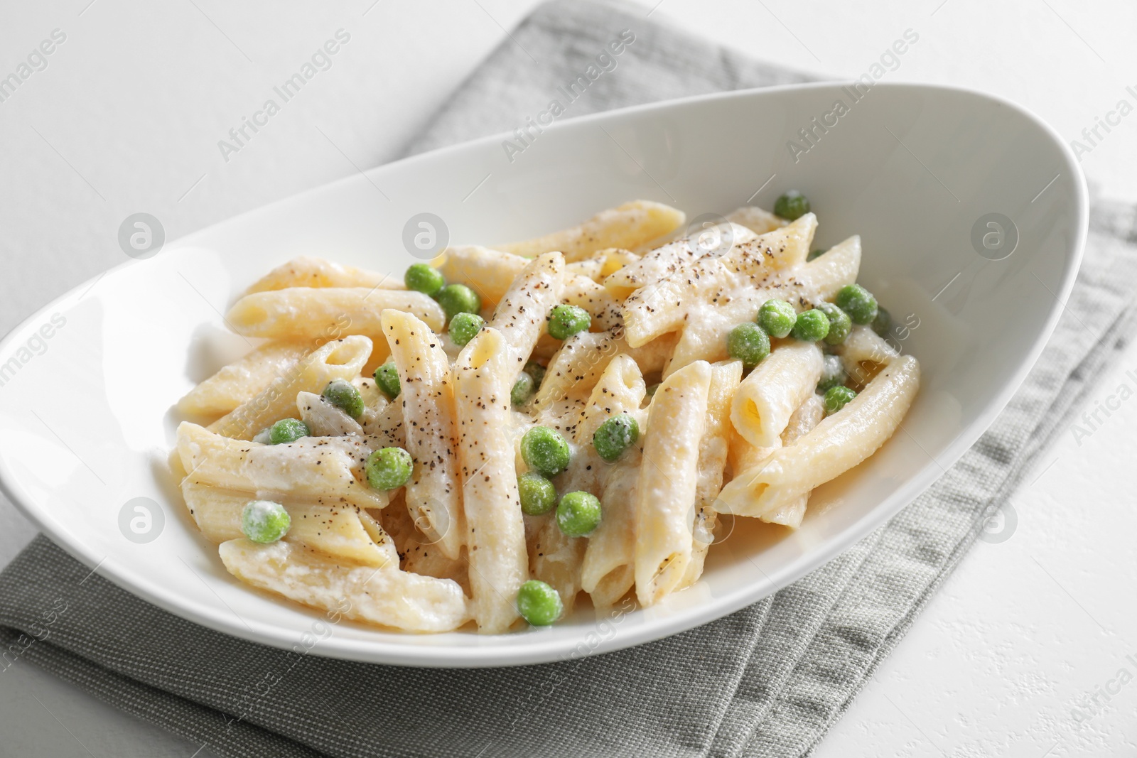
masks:
[[[121,263],[116,234],[128,214],[153,214],[175,239],[391,159],[537,5],[89,2],[8,0],[0,15],[0,76],[52,30],[67,35],[0,102],[0,332]],[[1127,0],[653,5],[642,6],[653,19],[835,77],[860,75],[913,28],[920,43],[890,81],[995,92],[1067,139],[1122,98],[1137,106],[1137,6]],[[318,85],[222,161],[217,140],[340,27],[351,42]],[[1137,200],[1137,114],[1099,135],[1084,157],[1092,183]],[[1122,382],[1137,388],[1137,349],[1090,405]],[[1062,434],[1013,501],[1011,538],[976,545],[819,758],[1137,753],[1137,684],[1117,678],[1122,668],[1137,676],[1126,659],[1137,661],[1135,427],[1128,402],[1080,445]],[[0,500],[0,565],[34,533]],[[1099,688],[1115,693],[1090,707]],[[0,756],[190,758],[200,748],[26,661],[0,674]]]

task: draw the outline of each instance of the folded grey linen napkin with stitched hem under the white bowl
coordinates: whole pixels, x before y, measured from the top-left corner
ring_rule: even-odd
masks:
[[[634,42],[565,117],[804,81],[644,13],[542,6],[459,88],[412,151],[512,130],[625,28]],[[40,536],[0,574],[0,647],[16,651],[0,666],[34,661],[221,756],[806,755],[1124,348],[1135,275],[1135,210],[1096,206],[1057,331],[974,448],[839,558],[772,598],[667,640],[506,669],[329,660],[182,620],[91,575]]]

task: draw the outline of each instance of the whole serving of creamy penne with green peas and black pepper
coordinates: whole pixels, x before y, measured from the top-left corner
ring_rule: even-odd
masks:
[[[225,317],[257,347],[179,402],[189,513],[238,580],[389,630],[658,603],[915,397],[860,238],[816,226],[792,191],[690,226],[641,200],[401,277],[283,264]]]

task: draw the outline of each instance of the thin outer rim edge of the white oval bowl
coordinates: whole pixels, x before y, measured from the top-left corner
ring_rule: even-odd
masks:
[[[587,125],[594,122],[622,119],[631,115],[665,111],[674,107],[727,101],[740,98],[778,97],[786,92],[837,89],[846,84],[848,84],[847,81],[840,80],[810,82],[804,84],[785,84],[747,90],[732,90],[728,92],[713,92],[578,116],[554,122],[550,126],[545,127],[545,130],[563,131],[566,128],[580,128],[581,125]],[[991,400],[989,400],[977,415],[976,419],[968,426],[963,427],[960,434],[956,435],[955,440],[953,440],[938,456],[932,458],[935,463],[939,464],[940,467],[946,470],[951,466],[955,465],[963,453],[971,448],[976,440],[979,439],[979,436],[1003,411],[1013,394],[1026,380],[1027,374],[1038,361],[1043,349],[1049,341],[1049,338],[1057,325],[1059,317],[1065,308],[1065,302],[1073,288],[1078,268],[1085,252],[1089,223],[1088,190],[1080,164],[1059,132],[1039,116],[1012,100],[991,94],[989,92],[984,92],[981,90],[945,84],[878,82],[873,86],[888,90],[932,90],[961,93],[1009,108],[1024,117],[1029,123],[1032,123],[1044,134],[1051,138],[1057,147],[1059,155],[1064,160],[1065,165],[1063,167],[1063,172],[1069,172],[1073,178],[1073,198],[1076,205],[1074,217],[1077,218],[1077,228],[1069,243],[1070,247],[1068,248],[1065,255],[1064,268],[1061,274],[1061,286],[1054,293],[1054,305],[1051,307],[1046,323],[1043,328],[1038,331],[1034,343],[1030,345],[1027,352],[1027,358],[1019,365],[1011,380],[994,394]],[[230,218],[222,219],[201,230],[197,230],[177,238],[176,240],[172,240],[167,242],[165,247],[192,247],[197,240],[205,236],[207,233],[215,233],[231,224],[238,224],[247,216],[263,213],[276,206],[294,202],[305,195],[325,192],[341,184],[358,182],[360,180],[360,175],[366,178],[368,174],[385,170],[392,166],[414,166],[418,161],[433,160],[438,157],[448,156],[457,151],[471,150],[488,144],[497,144],[503,139],[508,139],[509,135],[509,132],[499,132],[466,142],[408,156],[395,161],[381,164],[380,166],[374,166],[363,172],[348,174],[338,180],[302,190],[288,197],[274,200],[269,203],[242,211]],[[0,340],[0,355],[5,355],[17,341],[16,338],[22,335],[25,330],[33,324],[39,324],[44,314],[58,310],[64,305],[68,305],[73,300],[77,300],[103,276],[114,274],[119,269],[134,266],[140,263],[140,260],[127,260],[118,264],[117,266],[114,266],[97,276],[92,276],[66,293],[55,298],[43,307],[36,309],[27,318],[23,319],[19,324],[9,330],[3,339]],[[838,557],[855,542],[868,535],[874,528],[879,527],[886,520],[894,517],[901,509],[908,506],[921,492],[930,488],[939,478],[939,475],[932,476],[928,478],[928,481],[923,481],[923,478],[924,477],[919,476],[908,478],[888,498],[881,500],[871,514],[854,524],[850,524],[839,534],[827,540],[823,543],[823,547],[815,548],[800,558],[783,564],[774,572],[762,572],[767,580],[765,584],[739,586],[725,594],[717,595],[714,598],[713,602],[700,603],[698,608],[653,619],[650,623],[645,623],[639,626],[625,627],[620,634],[615,634],[611,639],[605,640],[601,638],[599,643],[590,648],[588,655],[613,652],[638,644],[644,644],[646,642],[661,640],[723,618],[724,616],[728,616],[745,606],[757,602],[758,600],[778,592],[783,586]],[[192,600],[175,601],[171,593],[161,590],[158,582],[149,580],[146,576],[138,575],[132,570],[118,568],[115,565],[115,561],[110,560],[109,557],[100,558],[93,550],[90,550],[82,540],[72,539],[66,530],[56,528],[55,519],[50,518],[50,514],[47,509],[38,506],[31,498],[25,500],[18,489],[13,484],[15,481],[16,477],[9,470],[7,459],[3,456],[0,456],[0,492],[3,492],[3,494],[7,495],[16,508],[33,524],[39,526],[52,542],[64,548],[72,557],[83,563],[92,570],[92,573],[98,572],[100,576],[111,581],[115,585],[130,592],[131,594],[169,611],[180,618],[200,624],[216,632],[236,636],[250,642],[268,644],[280,649],[290,649],[296,644],[297,631],[294,628],[272,625],[257,619],[243,619],[244,624],[234,623],[233,619],[214,606],[198,603]],[[296,606],[294,603],[291,605],[296,609],[310,611],[310,609],[302,608],[301,606]],[[309,652],[321,657],[396,666],[423,668],[482,668],[522,666],[564,660],[567,659],[568,653],[575,649],[574,643],[579,644],[579,641],[574,639],[557,638],[555,641],[540,640],[539,630],[524,634],[524,644],[503,644],[500,647],[492,648],[482,648],[478,645],[458,647],[447,644],[407,644],[404,642],[387,642],[382,640],[343,640],[342,638],[337,639],[332,635],[322,643],[316,644]],[[408,641],[423,639],[423,635],[415,634],[406,634],[405,636]],[[430,638],[431,635],[426,636],[426,639]],[[501,640],[516,639],[518,642],[522,639],[518,636],[517,632],[509,632],[500,635],[484,635],[482,639],[492,640],[495,638]]]

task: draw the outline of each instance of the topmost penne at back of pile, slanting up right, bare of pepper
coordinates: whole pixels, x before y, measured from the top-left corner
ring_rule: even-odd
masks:
[[[526,258],[558,250],[572,263],[605,248],[637,248],[670,234],[682,226],[683,220],[686,216],[681,210],[650,200],[636,200],[603,210],[580,226],[498,245],[498,249]]]

